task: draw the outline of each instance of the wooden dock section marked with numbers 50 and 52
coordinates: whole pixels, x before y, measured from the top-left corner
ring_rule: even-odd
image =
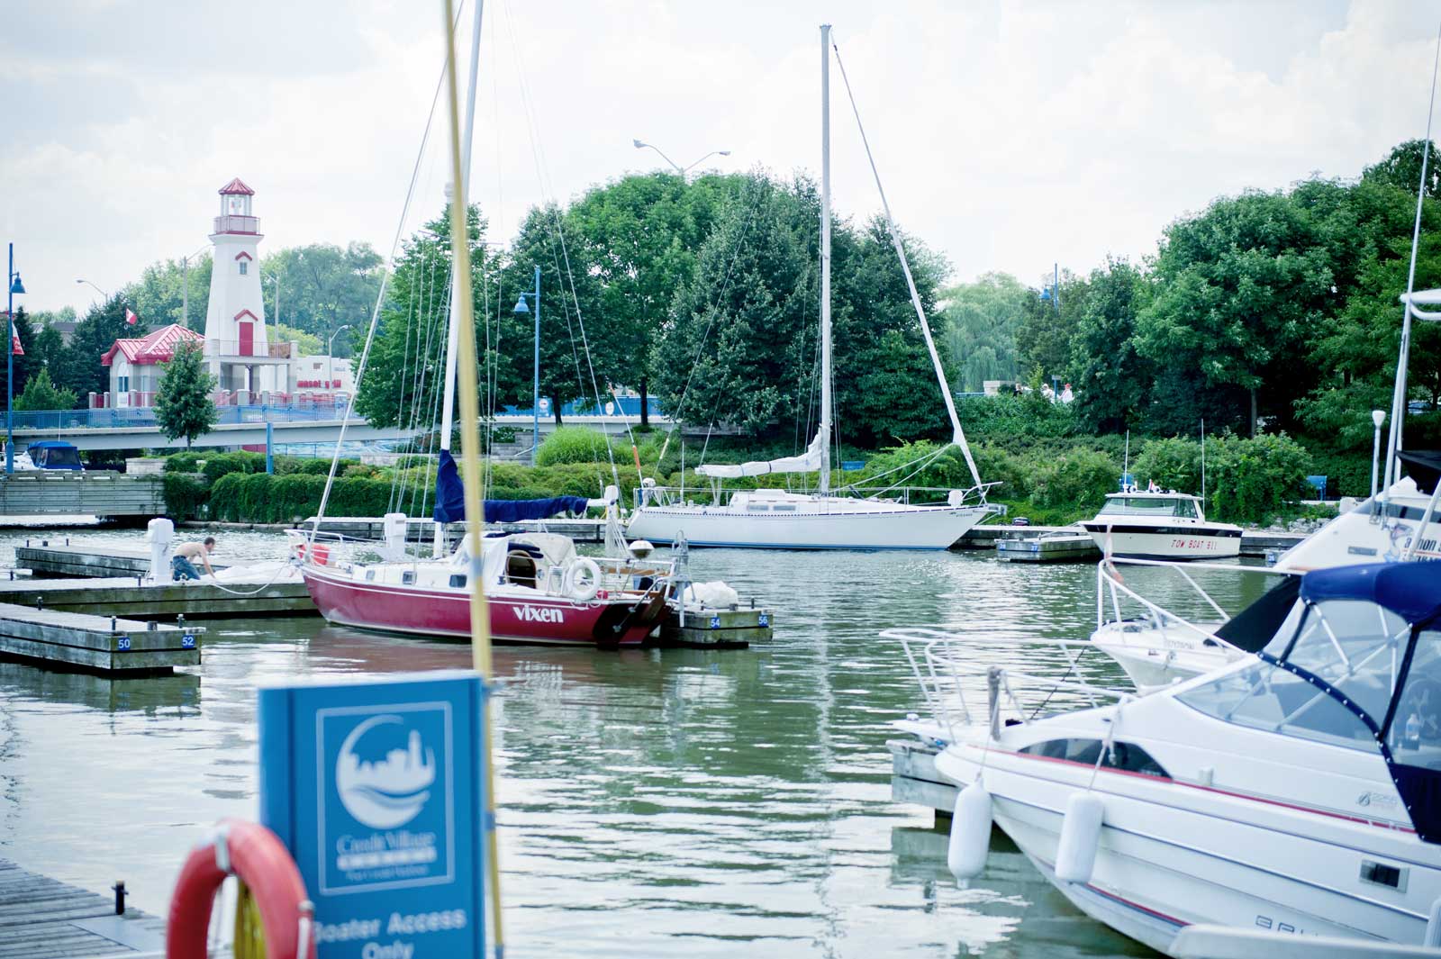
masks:
[[[45,667],[137,675],[200,665],[197,626],[0,603],[0,657]]]

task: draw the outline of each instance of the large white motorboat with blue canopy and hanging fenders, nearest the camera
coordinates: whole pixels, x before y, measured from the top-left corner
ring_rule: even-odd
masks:
[[[1307,573],[1264,649],[1148,695],[987,665],[960,635],[886,635],[924,642],[932,674],[957,680],[935,765],[963,788],[958,875],[984,867],[994,819],[1078,909],[1170,955],[1196,923],[1357,945],[1441,935],[1428,563]]]

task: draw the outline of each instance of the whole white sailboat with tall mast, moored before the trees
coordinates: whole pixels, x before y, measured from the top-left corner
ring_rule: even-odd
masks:
[[[830,488],[830,431],[834,405],[830,390],[830,26],[820,29],[821,37],[821,210],[820,210],[820,338],[821,338],[821,415],[820,429],[806,452],[798,456],[745,462],[739,465],[703,465],[703,477],[715,481],[713,503],[686,501],[683,491],[673,491],[646,481],[631,514],[627,533],[656,543],[684,539],[690,546],[735,546],[759,549],[937,549],[944,550],[981,521],[991,507],[986,505],[986,484],[976,469],[976,461],[965,444],[955,402],[947,387],[935,341],[916,292],[905,249],[901,245],[891,207],[880,190],[891,238],[901,256],[901,268],[911,288],[911,302],[925,336],[927,350],[935,367],[941,396],[951,418],[951,442],[961,448],[976,485],[971,490],[951,490],[944,503],[912,504],[905,498],[859,498],[836,495]],[[844,68],[842,68],[844,69]],[[857,115],[859,122],[859,115]],[[862,131],[865,138],[865,131]],[[866,147],[869,154],[869,145]],[[872,160],[872,171],[875,161]],[[876,177],[876,187],[880,179]],[[761,477],[768,474],[818,474],[816,492],[785,490],[746,490],[725,497],[720,480]],[[967,504],[976,494],[977,501]]]

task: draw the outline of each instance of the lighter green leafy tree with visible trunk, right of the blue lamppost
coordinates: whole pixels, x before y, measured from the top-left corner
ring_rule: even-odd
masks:
[[[696,255],[741,176],[633,174],[591,189],[565,216],[574,249],[599,282],[604,336],[628,344],[621,380],[647,396],[656,347],[676,289],[695,274]],[[574,252],[572,252],[574,255]]]

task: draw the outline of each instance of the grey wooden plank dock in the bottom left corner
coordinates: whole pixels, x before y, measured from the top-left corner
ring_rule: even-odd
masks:
[[[122,903],[0,860],[0,959],[163,953],[164,920]]]

